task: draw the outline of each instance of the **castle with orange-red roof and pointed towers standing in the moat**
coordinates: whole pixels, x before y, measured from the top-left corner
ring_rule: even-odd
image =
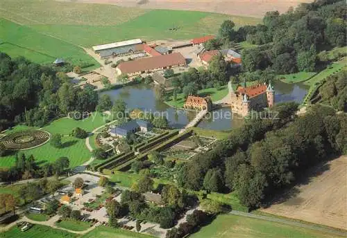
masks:
[[[237,86],[236,91],[231,91],[231,110],[241,116],[247,116],[251,111],[260,111],[265,107],[273,107],[275,91],[271,83]]]

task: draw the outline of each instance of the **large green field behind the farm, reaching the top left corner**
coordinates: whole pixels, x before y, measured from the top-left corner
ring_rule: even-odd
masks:
[[[144,10],[53,0],[2,0],[0,42],[4,44],[0,45],[0,51],[12,57],[24,55],[39,63],[62,57],[74,64],[83,61],[99,65],[81,46],[133,38],[191,39],[216,34],[226,19],[232,19],[236,28],[261,21],[211,12]]]

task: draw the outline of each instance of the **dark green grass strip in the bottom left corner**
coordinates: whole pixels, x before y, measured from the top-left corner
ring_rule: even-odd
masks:
[[[26,232],[22,232],[16,226],[12,227],[10,230],[1,233],[2,238],[73,238],[78,237],[73,233],[67,232],[65,230],[58,230],[50,228],[49,226],[34,225]]]

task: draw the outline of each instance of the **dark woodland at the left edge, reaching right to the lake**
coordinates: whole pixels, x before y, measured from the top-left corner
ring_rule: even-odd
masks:
[[[0,131],[19,122],[42,127],[70,111],[94,111],[97,102],[93,89],[74,88],[65,73],[0,53]]]

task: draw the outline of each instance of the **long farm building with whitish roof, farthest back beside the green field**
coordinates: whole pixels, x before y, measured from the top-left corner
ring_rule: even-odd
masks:
[[[138,48],[138,45],[141,45],[142,43],[141,39],[129,39],[124,42],[92,46],[92,48],[96,54],[99,54],[101,59],[107,59],[116,55],[128,55],[141,51],[141,48]]]

